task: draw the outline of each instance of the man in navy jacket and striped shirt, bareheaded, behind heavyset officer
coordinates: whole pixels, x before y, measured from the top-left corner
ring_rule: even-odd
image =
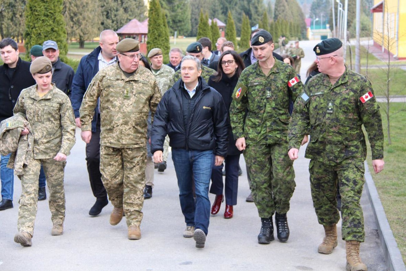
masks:
[[[75,114],[75,122],[80,125],[79,108],[82,104],[83,95],[87,86],[93,77],[104,67],[117,63],[116,45],[119,43],[119,37],[112,30],[104,30],[100,33],[99,47],[95,48],[89,55],[80,59],[78,70],[73,77],[72,84],[72,107]],[[96,197],[96,203],[90,209],[91,216],[97,216],[102,212],[104,206],[108,204],[107,192],[102,183],[102,174],[100,173],[100,111],[99,106],[95,109],[95,115],[92,120],[92,137],[86,144],[86,164],[89,173],[90,186],[93,195]]]

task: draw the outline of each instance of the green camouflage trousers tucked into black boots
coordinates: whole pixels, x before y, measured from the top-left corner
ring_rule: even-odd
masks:
[[[259,217],[269,218],[274,212],[287,213],[296,186],[293,162],[287,155],[287,143],[248,144],[244,158]]]

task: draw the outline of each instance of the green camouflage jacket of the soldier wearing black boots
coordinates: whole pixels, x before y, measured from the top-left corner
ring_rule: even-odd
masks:
[[[245,138],[247,144],[287,142],[289,96],[294,101],[303,90],[296,76],[292,66],[276,59],[267,76],[258,61],[245,68],[230,107],[234,138]],[[289,81],[295,78],[297,83],[289,87]]]

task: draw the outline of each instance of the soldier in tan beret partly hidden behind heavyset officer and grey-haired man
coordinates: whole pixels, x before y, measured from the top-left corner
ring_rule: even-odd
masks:
[[[151,51],[149,51],[148,58],[149,61],[151,61],[152,74],[155,76],[156,82],[158,83],[158,87],[163,96],[166,90],[170,89],[172,85],[175,83],[173,81],[175,71],[172,68],[163,65],[162,50],[160,48],[153,48]],[[169,136],[166,136],[164,142],[164,153],[162,157],[162,163],[158,165],[158,172],[164,172],[164,170],[166,169],[166,160],[168,159],[168,148],[169,148]],[[145,184],[146,191],[144,191],[144,198],[149,199],[150,197],[152,197],[152,188],[153,183]]]

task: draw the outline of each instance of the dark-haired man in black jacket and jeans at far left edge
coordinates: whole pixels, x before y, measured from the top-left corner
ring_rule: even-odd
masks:
[[[0,54],[4,64],[0,66],[0,121],[13,116],[13,108],[20,92],[35,85],[30,73],[30,62],[22,61],[17,43],[11,38],[2,39]],[[0,177],[1,196],[0,210],[13,208],[14,172],[7,168],[10,154],[1,155]]]

